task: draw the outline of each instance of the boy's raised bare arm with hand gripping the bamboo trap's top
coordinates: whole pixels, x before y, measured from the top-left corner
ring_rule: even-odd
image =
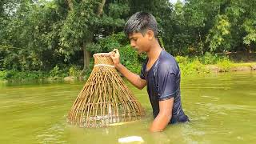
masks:
[[[118,49],[113,50],[115,53],[111,55],[111,58],[114,62],[114,67],[124,76],[128,79],[130,83],[132,83],[134,86],[136,86],[138,89],[142,90],[143,87],[146,86],[146,80],[139,77],[138,74],[132,73],[130,70],[126,69],[125,66],[123,66],[120,63],[120,54],[118,52]]]

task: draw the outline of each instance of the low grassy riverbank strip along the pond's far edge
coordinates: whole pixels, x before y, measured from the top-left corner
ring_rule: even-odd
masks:
[[[212,74],[212,73],[227,73],[235,71],[253,71],[256,70],[256,62],[218,62],[214,65],[204,65],[199,61],[190,63],[180,63],[180,69],[182,75],[192,74]],[[77,72],[78,74],[78,72]],[[59,74],[58,76],[51,76],[46,72],[31,71],[31,72],[18,72],[14,70],[0,71],[0,82],[8,81],[27,81],[27,80],[38,80],[38,81],[84,81],[88,78],[90,73],[84,77],[79,78],[78,75]]]

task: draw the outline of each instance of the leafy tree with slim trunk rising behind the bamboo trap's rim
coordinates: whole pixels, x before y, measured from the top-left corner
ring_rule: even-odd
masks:
[[[126,5],[121,5],[121,2],[106,3],[106,0],[101,2],[88,0],[75,3],[68,1],[68,4],[70,7],[69,14],[62,26],[60,42],[64,47],[62,52],[66,53],[67,56],[82,47],[84,54],[82,75],[89,68],[89,51],[94,42],[94,34],[97,34],[101,29],[106,30],[106,34],[114,34],[118,27],[123,26],[124,20],[120,17],[123,14],[122,10],[126,11],[127,8]],[[106,5],[108,9],[104,9]]]

